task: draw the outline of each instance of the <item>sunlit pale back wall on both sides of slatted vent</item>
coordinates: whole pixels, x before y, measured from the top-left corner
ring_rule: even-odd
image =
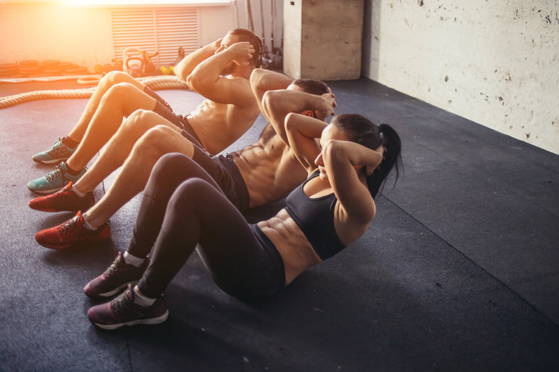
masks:
[[[236,27],[233,3],[201,7],[201,45]],[[94,70],[114,58],[110,10],[47,3],[0,5],[0,64],[58,59]]]

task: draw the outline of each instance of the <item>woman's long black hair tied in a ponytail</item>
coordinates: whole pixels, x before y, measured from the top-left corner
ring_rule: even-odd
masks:
[[[386,177],[394,170],[395,179],[398,181],[400,171],[403,171],[402,164],[402,141],[400,136],[388,124],[377,126],[369,119],[359,114],[339,114],[333,117],[331,124],[337,126],[350,141],[362,144],[369,149],[377,149],[384,146],[384,158],[372,174],[367,176],[367,186],[372,197],[375,198],[379,189],[386,181]],[[365,173],[366,168],[363,167],[361,172]]]

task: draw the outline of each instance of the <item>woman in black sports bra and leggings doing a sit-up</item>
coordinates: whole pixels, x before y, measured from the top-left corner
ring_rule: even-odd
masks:
[[[375,218],[373,197],[379,187],[393,168],[398,178],[401,146],[393,128],[357,114],[338,115],[328,125],[289,114],[285,131],[309,177],[286,198],[284,209],[256,225],[245,221],[191,159],[180,154],[161,158],[125,253],[145,258],[138,265],[147,269],[138,285],[129,284],[111,302],[90,308],[89,320],[103,329],[164,322],[168,311],[163,293],[198,243],[219,288],[252,299],[274,295],[307,267],[361,237]],[[168,176],[179,170],[191,177],[170,188]],[[102,275],[88,285],[99,281]]]

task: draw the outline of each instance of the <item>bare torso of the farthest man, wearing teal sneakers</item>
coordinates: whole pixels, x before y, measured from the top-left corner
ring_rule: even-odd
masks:
[[[248,80],[246,84],[250,89]],[[254,124],[259,112],[256,100],[240,107],[206,99],[190,112],[188,120],[203,147],[215,155],[238,140]]]

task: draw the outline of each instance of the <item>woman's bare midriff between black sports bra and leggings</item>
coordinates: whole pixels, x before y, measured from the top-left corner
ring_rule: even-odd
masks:
[[[280,210],[268,221],[261,221],[258,227],[282,256],[285,268],[285,285],[288,285],[307,267],[316,265],[322,260],[312,248],[303,231],[287,214]]]

